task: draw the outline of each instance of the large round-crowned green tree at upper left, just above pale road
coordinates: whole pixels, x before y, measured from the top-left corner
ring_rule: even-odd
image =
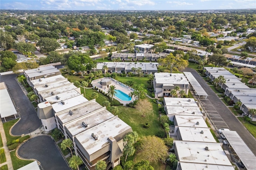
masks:
[[[40,51],[45,51],[49,53],[51,51],[55,51],[57,48],[60,47],[60,44],[54,38],[41,38],[41,40],[36,43],[36,46],[40,47]]]

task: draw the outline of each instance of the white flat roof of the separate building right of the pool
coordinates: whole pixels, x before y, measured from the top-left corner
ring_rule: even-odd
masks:
[[[158,84],[189,84],[182,73],[155,73],[155,79]]]

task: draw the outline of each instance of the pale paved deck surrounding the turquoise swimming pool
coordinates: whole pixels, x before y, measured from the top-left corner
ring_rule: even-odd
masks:
[[[102,91],[105,91],[105,93],[108,93],[108,88],[103,89],[103,88],[101,87],[100,83],[98,83],[98,82],[100,82],[102,79],[104,79],[104,78],[100,78],[100,79],[96,79],[96,80],[92,81],[92,86],[93,86],[93,87],[98,87],[98,89],[100,89],[100,90],[102,90]],[[120,90],[120,91],[126,93],[127,95],[129,95],[129,93],[132,91],[132,88],[130,88],[130,87],[126,88],[126,87],[120,85],[120,83],[119,83],[117,80],[115,80],[115,79],[112,79],[112,80],[111,80],[111,85],[114,85],[114,86],[116,87],[116,90]],[[131,103],[131,102],[134,101],[134,99],[132,99],[131,101],[122,101],[122,100],[118,99],[118,98],[115,97],[115,96],[114,96],[114,99],[120,101],[120,103],[123,103],[124,106],[126,106],[126,104],[129,104],[129,103]]]

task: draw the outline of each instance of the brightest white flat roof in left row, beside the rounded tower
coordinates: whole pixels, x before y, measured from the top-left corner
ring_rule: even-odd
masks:
[[[80,105],[80,104],[85,103],[87,101],[88,100],[83,95],[79,95],[79,96],[76,96],[76,97],[65,100],[64,105],[61,102],[52,104],[52,109],[54,110],[54,113],[58,113],[60,111],[70,109],[74,106]]]

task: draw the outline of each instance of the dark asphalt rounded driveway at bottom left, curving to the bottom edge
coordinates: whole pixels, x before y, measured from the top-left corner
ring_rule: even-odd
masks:
[[[70,170],[50,136],[37,136],[24,142],[18,149],[18,155],[38,160],[43,170]]]

